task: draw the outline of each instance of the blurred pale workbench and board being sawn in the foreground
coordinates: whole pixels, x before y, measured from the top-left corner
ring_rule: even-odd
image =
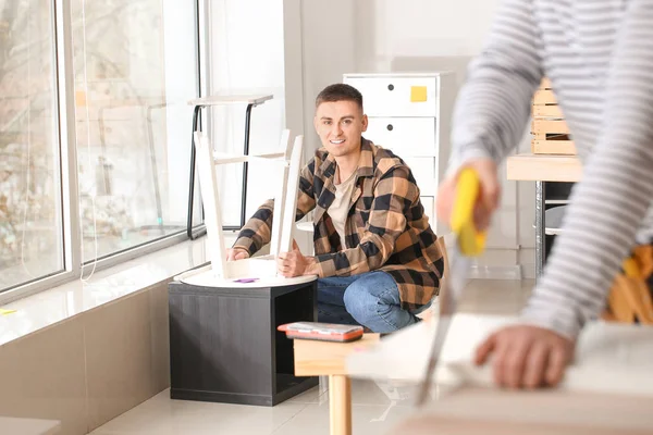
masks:
[[[491,364],[475,364],[475,350],[518,316],[457,313],[440,353],[429,402],[393,435],[616,435],[653,433],[653,327],[588,323],[574,361],[556,388],[496,388]],[[423,380],[439,319],[385,337],[347,358],[349,376]]]

